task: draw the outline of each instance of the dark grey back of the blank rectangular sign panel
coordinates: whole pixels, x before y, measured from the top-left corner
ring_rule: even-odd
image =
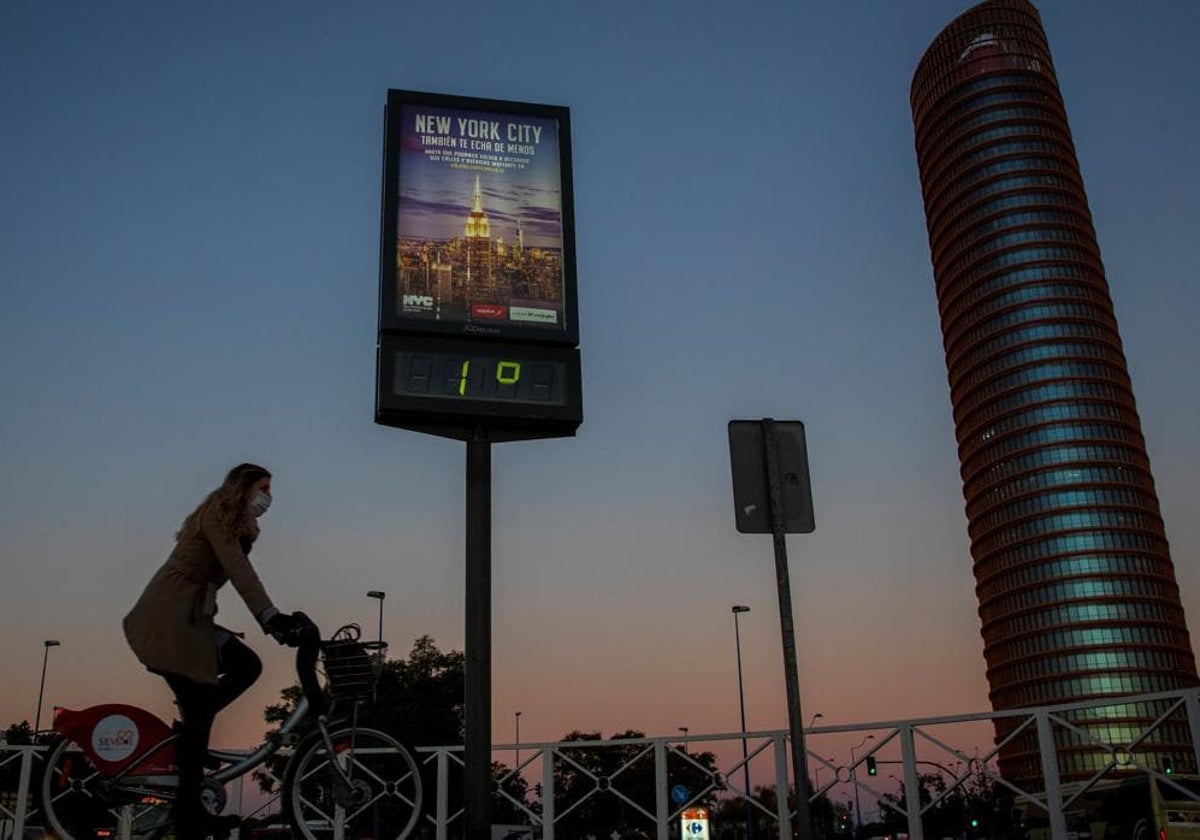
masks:
[[[730,421],[730,462],[733,472],[733,515],[742,534],[770,534],[770,486],[762,420]],[[812,487],[804,424],[770,421],[775,442],[775,474],[784,508],[784,533],[811,534]]]

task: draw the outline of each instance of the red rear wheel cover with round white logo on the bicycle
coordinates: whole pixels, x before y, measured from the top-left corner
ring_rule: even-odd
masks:
[[[116,773],[132,762],[134,775],[175,773],[175,745],[166,744],[146,755],[156,744],[172,736],[172,728],[158,716],[124,703],[103,703],[86,709],[56,708],[54,728],[84,751],[103,774]]]

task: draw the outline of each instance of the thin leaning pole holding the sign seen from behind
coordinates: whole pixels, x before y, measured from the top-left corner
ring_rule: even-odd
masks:
[[[800,713],[800,683],[796,667],[796,632],[792,628],[792,587],[787,576],[784,491],[775,450],[775,421],[762,420],[763,454],[767,458],[767,487],[770,492],[770,528],[775,544],[775,581],[779,589],[779,625],[784,642],[784,680],[787,685],[787,728],[792,738],[792,776],[796,785],[796,823],[800,840],[811,840],[809,809],[808,751],[804,746],[804,718]],[[781,792],[786,798],[786,791]],[[786,840],[786,838],[781,838]]]

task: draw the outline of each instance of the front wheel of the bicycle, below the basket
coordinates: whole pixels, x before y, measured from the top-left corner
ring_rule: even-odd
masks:
[[[421,773],[386,732],[319,732],[296,746],[283,774],[283,800],[294,832],[308,840],[403,840],[421,815]]]

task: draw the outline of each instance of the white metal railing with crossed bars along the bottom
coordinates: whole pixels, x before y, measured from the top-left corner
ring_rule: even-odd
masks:
[[[1078,722],[1084,713],[1103,716],[1103,710],[1108,707],[1130,704],[1150,704],[1162,712],[1154,721],[1132,732],[1129,738],[1120,743],[1105,742]],[[814,727],[805,731],[809,774],[816,780],[812,798],[828,796],[835,791],[845,793],[847,787],[851,793],[854,790],[863,791],[877,797],[881,808],[902,816],[912,840],[924,840],[923,817],[972,779],[986,778],[1004,788],[1014,802],[1042,812],[1054,840],[1067,840],[1066,809],[1105,776],[1138,773],[1166,785],[1172,784],[1162,768],[1146,762],[1144,756],[1146,745],[1153,743],[1152,736],[1168,720],[1181,721],[1184,718],[1190,733],[1189,757],[1194,758],[1195,767],[1200,767],[1200,749],[1198,749],[1200,748],[1200,689],[1007,712]],[[989,732],[990,738],[989,725],[995,725],[997,721],[1003,721],[1006,730],[1010,731],[990,750],[980,755],[961,746],[962,743],[978,738],[984,730]],[[962,737],[961,731],[955,733],[955,730],[961,727],[968,727],[973,734]],[[1040,785],[1015,784],[1002,776],[997,769],[996,761],[1001,750],[1022,733],[1025,737],[1036,734],[1042,767]],[[864,737],[865,744],[866,736],[874,743],[848,763],[823,755],[826,752],[823,744],[834,742],[841,744],[847,737]],[[1070,785],[1061,781],[1055,745],[1056,737],[1061,744],[1064,736],[1073,743],[1084,744],[1097,755],[1106,757],[1090,779]],[[739,749],[743,739],[748,745],[744,760]],[[697,760],[698,754],[695,751],[697,744],[708,748],[714,754],[714,761],[718,752],[727,752],[734,757],[722,764],[714,764],[714,769]],[[7,782],[14,790],[0,790],[0,840],[6,840],[7,836],[19,838],[26,824],[38,822],[40,815],[32,792],[41,784],[41,763],[46,749],[0,745],[0,773],[4,773],[7,780],[16,776],[14,786],[11,781]],[[599,772],[593,768],[605,762],[589,758],[594,750],[620,750],[624,760],[610,764],[605,772]],[[767,820],[778,829],[778,836],[788,838],[792,836],[794,811],[788,808],[787,797],[776,796],[774,808],[768,808],[752,791],[745,791],[738,784],[743,768],[752,763],[760,787],[774,785],[776,792],[787,791],[790,775],[787,750],[786,731],[694,734],[685,739],[672,736],[497,744],[493,746],[493,756],[520,754],[520,763],[509,768],[498,780],[496,796],[520,814],[522,821],[530,826],[541,840],[554,840],[556,830],[565,824],[569,816],[582,809],[588,800],[599,802],[602,798],[605,802],[616,800],[630,824],[641,826],[644,833],[653,830],[656,840],[671,840],[674,836],[673,822],[684,809],[724,799],[748,803],[748,809],[752,810],[758,820]],[[454,799],[451,791],[461,790],[462,785],[462,746],[416,748],[414,752],[419,763],[428,768],[427,779],[433,781],[426,787],[422,805],[424,823],[437,840],[451,840],[462,834],[464,824],[462,809],[458,808],[452,812],[450,810]],[[872,763],[878,761],[902,768],[902,776],[896,780],[904,794],[902,799],[884,791],[883,782],[878,779],[862,773],[860,768],[868,760]],[[948,767],[952,763],[960,769],[952,770]],[[764,764],[768,768],[766,772]],[[922,766],[935,766],[946,778],[944,788],[932,797],[926,796],[925,802],[922,802],[920,796]],[[828,770],[830,778],[822,785],[820,778],[823,770]],[[575,779],[570,791],[563,790],[560,785],[564,773]],[[520,774],[523,781],[532,782],[527,788],[518,786],[524,791],[520,798],[505,790],[505,782],[511,781],[516,774]],[[678,780],[683,776],[686,776],[691,785],[684,796],[679,796]],[[644,782],[648,778],[653,778],[650,796],[646,794]],[[1175,787],[1178,788],[1180,799],[1200,802],[1200,797],[1195,793]],[[673,798],[672,788],[676,788]],[[566,794],[574,796],[574,799],[564,798]],[[10,830],[11,834],[7,833]]]

